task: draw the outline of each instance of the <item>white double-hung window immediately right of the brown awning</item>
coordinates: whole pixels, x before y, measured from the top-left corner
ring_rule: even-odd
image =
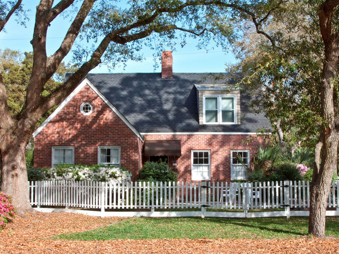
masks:
[[[192,150],[192,180],[211,179],[211,160],[209,150]]]

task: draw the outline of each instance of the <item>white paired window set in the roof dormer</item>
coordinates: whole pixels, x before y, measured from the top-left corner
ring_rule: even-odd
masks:
[[[203,97],[204,124],[234,124],[236,96],[213,95]]]

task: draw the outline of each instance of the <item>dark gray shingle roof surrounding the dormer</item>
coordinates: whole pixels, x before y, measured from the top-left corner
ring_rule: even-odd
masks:
[[[241,95],[241,124],[199,125],[195,84],[233,84],[220,74],[173,73],[161,79],[160,73],[88,74],[86,77],[140,132],[256,132],[270,128],[263,114],[248,107],[248,94]]]

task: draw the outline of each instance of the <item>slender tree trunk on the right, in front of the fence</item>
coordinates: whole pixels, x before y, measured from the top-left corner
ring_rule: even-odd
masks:
[[[308,218],[308,234],[323,238],[325,236],[325,215],[327,198],[330,191],[332,176],[337,167],[338,126],[336,117],[335,83],[338,78],[339,35],[332,30],[332,16],[339,1],[324,1],[319,10],[319,24],[324,41],[324,65],[321,90],[321,113],[325,121],[322,136],[323,150],[321,164],[313,173],[310,189],[310,209]]]

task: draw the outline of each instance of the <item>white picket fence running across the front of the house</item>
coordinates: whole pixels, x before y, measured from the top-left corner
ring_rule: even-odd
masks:
[[[309,208],[308,181],[35,181],[29,182],[29,191],[37,210],[65,209],[98,216],[290,217],[307,216]],[[339,181],[334,181],[326,215],[338,216],[338,204]]]

